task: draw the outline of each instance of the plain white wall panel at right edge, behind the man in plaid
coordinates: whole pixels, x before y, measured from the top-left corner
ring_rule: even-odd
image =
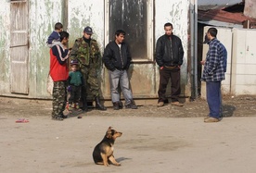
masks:
[[[256,31],[234,29],[233,33],[231,92],[256,94]]]

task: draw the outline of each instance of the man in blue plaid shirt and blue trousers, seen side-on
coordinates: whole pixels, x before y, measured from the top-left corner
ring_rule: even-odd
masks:
[[[224,80],[226,71],[227,52],[224,44],[217,40],[217,29],[210,28],[205,35],[205,43],[209,44],[206,60],[201,61],[204,65],[202,81],[206,81],[207,103],[210,114],[204,118],[204,122],[218,122],[222,107],[221,82]]]

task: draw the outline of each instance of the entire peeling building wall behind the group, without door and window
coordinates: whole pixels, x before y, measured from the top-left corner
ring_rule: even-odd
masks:
[[[10,55],[9,55],[9,29],[10,2],[0,0],[0,95],[18,96],[28,98],[51,98],[46,92],[46,80],[49,71],[49,48],[45,45],[48,35],[54,30],[58,21],[67,26],[70,32],[70,47],[76,38],[82,37],[83,28],[91,26],[95,32],[93,37],[99,43],[103,53],[108,31],[105,30],[106,6],[108,0],[28,0],[29,4],[29,94],[10,93]],[[173,23],[173,32],[182,39],[185,57],[182,66],[182,94],[187,96],[187,28],[189,1],[183,0],[155,0],[154,7],[154,35],[152,46],[155,46],[160,35],[164,34],[163,25]],[[68,7],[67,7],[68,6]],[[67,18],[66,18],[67,17]],[[145,29],[147,30],[147,28]],[[153,56],[153,55],[152,55]],[[102,67],[99,71],[102,77],[102,93],[109,99],[109,77],[107,70]],[[129,70],[131,88],[135,98],[156,98],[159,85],[159,67],[156,63],[136,63]],[[20,74],[22,75],[22,74]],[[145,87],[146,86],[146,87]],[[188,95],[189,96],[189,95]]]

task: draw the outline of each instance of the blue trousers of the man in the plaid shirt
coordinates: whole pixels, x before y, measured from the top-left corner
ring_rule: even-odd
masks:
[[[220,118],[222,112],[221,81],[206,82],[207,103],[210,117]]]

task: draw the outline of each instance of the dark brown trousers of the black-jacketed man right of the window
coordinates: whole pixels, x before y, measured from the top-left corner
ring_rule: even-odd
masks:
[[[165,93],[168,81],[171,79],[171,98],[172,102],[178,102],[181,93],[180,87],[180,68],[162,68],[160,69],[160,87],[159,87],[159,102],[166,100]]]

